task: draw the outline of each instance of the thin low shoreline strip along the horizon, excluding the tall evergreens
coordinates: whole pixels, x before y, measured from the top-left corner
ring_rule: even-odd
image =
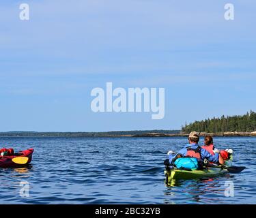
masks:
[[[110,132],[100,132],[100,133],[87,133],[87,132],[5,132],[0,133],[0,138],[6,137],[81,137],[81,138],[121,138],[121,137],[134,137],[134,138],[145,138],[145,137],[188,137],[188,134],[177,133],[162,133],[168,132],[167,130],[158,131],[110,131]],[[119,134],[116,134],[116,133]],[[132,134],[121,134],[122,132],[131,132]],[[137,133],[138,132],[138,133]],[[115,133],[115,134],[113,134]],[[215,136],[215,137],[255,137],[256,132],[223,132],[223,133],[205,133],[202,132],[200,136]]]

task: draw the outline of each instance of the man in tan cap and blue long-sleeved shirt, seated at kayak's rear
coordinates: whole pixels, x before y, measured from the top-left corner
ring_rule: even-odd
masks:
[[[173,156],[173,152],[169,151],[169,162],[173,163],[175,159],[179,157],[195,157],[199,159],[200,161],[203,161],[204,159],[207,159],[208,161],[212,163],[219,163],[223,164],[224,160],[219,155],[218,149],[214,149],[214,155],[211,155],[207,150],[202,149],[201,146],[199,146],[199,134],[197,134],[196,131],[192,131],[188,136],[188,144],[184,146],[182,150],[180,150],[176,155]]]

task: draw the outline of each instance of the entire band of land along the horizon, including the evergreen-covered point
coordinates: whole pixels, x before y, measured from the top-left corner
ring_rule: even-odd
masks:
[[[102,132],[38,132],[6,131],[0,137],[188,137],[190,131],[200,132],[200,136],[256,136],[256,112],[251,110],[242,116],[221,116],[185,124],[181,130],[134,130]]]

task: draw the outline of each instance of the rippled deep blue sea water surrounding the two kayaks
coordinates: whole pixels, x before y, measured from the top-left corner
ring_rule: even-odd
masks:
[[[256,138],[214,141],[246,170],[167,187],[163,161],[186,138],[0,138],[1,147],[35,149],[29,168],[0,168],[0,204],[256,204]]]

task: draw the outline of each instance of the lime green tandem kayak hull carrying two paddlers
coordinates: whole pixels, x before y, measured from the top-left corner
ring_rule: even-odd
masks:
[[[232,165],[231,156],[229,160],[225,161],[225,166]],[[177,179],[193,179],[193,178],[204,178],[209,176],[219,176],[222,174],[226,174],[228,170],[221,169],[221,168],[205,168],[203,170],[177,170],[173,169],[170,171],[165,170],[165,176],[167,179],[167,183],[171,183],[173,180]]]

